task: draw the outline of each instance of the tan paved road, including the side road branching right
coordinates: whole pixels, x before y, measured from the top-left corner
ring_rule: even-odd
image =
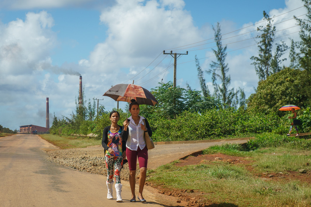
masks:
[[[222,141],[227,142],[227,141]],[[244,143],[246,140],[230,140]],[[182,158],[219,142],[156,145],[149,151],[149,168]],[[101,146],[99,146],[101,147]],[[96,148],[96,147],[94,147]],[[176,198],[145,186],[147,204],[130,203],[129,183],[122,181],[125,202],[107,200],[106,177],[62,167],[45,160],[55,147],[37,135],[0,138],[0,206],[176,206]],[[95,150],[95,149],[94,149]],[[115,195],[115,192],[114,192]],[[126,196],[128,195],[128,196]],[[182,201],[179,205],[186,205]]]

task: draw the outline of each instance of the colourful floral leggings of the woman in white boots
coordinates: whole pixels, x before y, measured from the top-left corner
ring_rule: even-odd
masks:
[[[105,163],[107,168],[107,181],[113,182],[113,176],[116,183],[121,183],[120,172],[123,164],[123,156],[105,155]]]

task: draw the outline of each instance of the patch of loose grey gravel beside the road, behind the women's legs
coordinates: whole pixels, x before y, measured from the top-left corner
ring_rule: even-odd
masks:
[[[104,150],[95,147],[81,149],[66,149],[47,151],[47,160],[61,164],[65,167],[76,169],[82,172],[96,173],[107,176]],[[123,165],[121,180],[128,181],[128,163]],[[136,171],[136,179],[139,178],[139,169]]]

